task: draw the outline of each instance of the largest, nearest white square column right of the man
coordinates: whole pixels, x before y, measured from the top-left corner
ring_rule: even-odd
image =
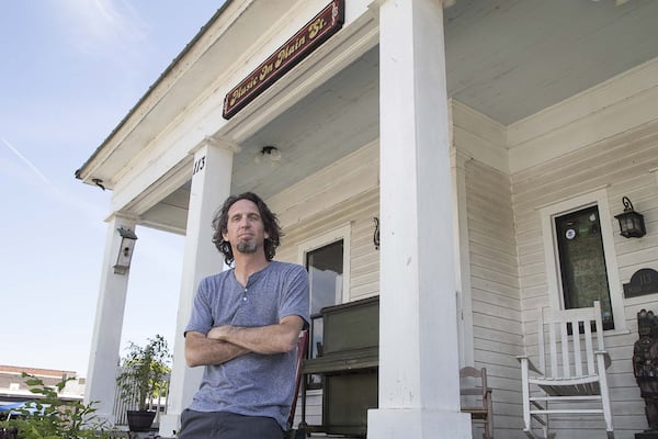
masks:
[[[379,1],[379,408],[367,437],[470,438],[460,413],[441,1]]]

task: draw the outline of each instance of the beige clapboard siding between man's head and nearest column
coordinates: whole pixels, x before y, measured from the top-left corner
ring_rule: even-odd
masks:
[[[379,254],[373,244],[379,216],[378,145],[364,146],[272,199],[285,236],[276,259],[296,263],[298,246],[350,225],[350,301],[379,293]],[[270,200],[269,200],[270,202]]]

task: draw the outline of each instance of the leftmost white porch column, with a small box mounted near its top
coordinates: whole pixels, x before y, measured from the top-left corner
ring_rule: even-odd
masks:
[[[120,359],[121,331],[128,290],[128,270],[125,274],[114,273],[114,264],[121,246],[120,227],[135,232],[135,222],[113,216],[107,224],[103,272],[97,304],[91,353],[87,370],[84,402],[98,402],[97,415],[114,423],[112,409],[116,390],[116,368]]]

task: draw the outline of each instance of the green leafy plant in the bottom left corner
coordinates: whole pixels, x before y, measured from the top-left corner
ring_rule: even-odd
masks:
[[[58,394],[64,390],[67,381],[64,379],[55,389],[31,374],[22,374],[31,389],[30,392],[41,395],[38,399],[26,407],[16,408],[20,416],[5,420],[7,430],[18,428],[21,439],[105,439],[110,438],[111,425],[105,419],[97,416],[93,402],[83,404],[79,401],[64,401]]]

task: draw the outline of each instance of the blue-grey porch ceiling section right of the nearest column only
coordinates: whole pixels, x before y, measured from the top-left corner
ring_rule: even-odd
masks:
[[[509,125],[658,56],[658,2],[457,0],[449,95]]]

